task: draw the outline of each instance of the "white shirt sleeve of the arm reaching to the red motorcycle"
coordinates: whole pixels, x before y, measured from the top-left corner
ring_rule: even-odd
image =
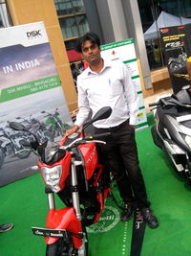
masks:
[[[74,122],[74,125],[80,128],[84,124],[84,121],[87,119],[91,109],[89,106],[87,93],[83,89],[82,81],[79,79],[79,77],[77,77],[77,91],[79,111],[76,115],[76,121]]]

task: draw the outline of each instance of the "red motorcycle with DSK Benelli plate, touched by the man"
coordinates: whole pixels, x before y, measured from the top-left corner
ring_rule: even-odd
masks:
[[[39,144],[35,135],[29,145],[39,156],[38,167],[49,201],[46,228],[32,227],[32,232],[45,237],[47,256],[88,255],[86,226],[98,221],[111,189],[110,175],[103,172],[104,166],[98,163],[96,152],[96,144],[105,144],[98,139],[109,133],[87,136],[84,129],[108,118],[111,112],[109,106],[101,108],[81,134],[77,133],[73,139],[64,137],[55,147],[48,147],[47,142]],[[10,126],[26,131],[16,122]],[[64,202],[64,208],[55,209],[54,193]]]

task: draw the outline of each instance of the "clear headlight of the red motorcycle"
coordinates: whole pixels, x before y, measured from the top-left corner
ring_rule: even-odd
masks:
[[[41,171],[47,186],[49,186],[53,190],[53,192],[59,192],[59,180],[62,174],[61,165],[56,165],[52,168],[42,167]]]

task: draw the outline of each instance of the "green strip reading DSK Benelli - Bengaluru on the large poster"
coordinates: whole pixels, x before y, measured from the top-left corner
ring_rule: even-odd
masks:
[[[1,90],[0,103],[8,102],[23,96],[31,95],[33,93],[53,89],[54,87],[58,86],[61,86],[61,83],[57,75],[11,86]]]

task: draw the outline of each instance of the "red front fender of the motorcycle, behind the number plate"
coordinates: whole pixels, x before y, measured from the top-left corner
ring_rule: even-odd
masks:
[[[70,232],[78,234],[82,232],[81,222],[74,214],[74,208],[66,207],[60,210],[50,210],[46,221],[47,228],[65,229]],[[46,244],[54,244],[59,238],[46,237]],[[81,246],[81,239],[72,236],[74,248]]]

